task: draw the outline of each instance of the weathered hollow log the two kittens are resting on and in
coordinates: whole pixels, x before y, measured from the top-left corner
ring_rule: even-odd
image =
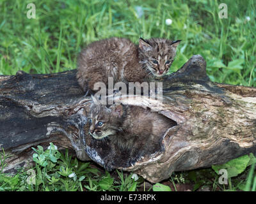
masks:
[[[150,182],[173,171],[222,164],[244,154],[256,154],[256,88],[213,83],[206,62],[194,55],[163,83],[161,100],[139,95],[115,96],[124,105],[141,106],[170,119],[157,141],[160,148],[141,154],[113,151],[109,140],[88,135],[87,114],[92,99],[84,96],[76,70],[46,75],[18,71],[0,76],[0,145],[12,154],[6,172],[31,161],[31,147],[53,142],[92,159],[101,166],[134,171]],[[175,124],[175,125],[173,125]],[[141,143],[150,148],[152,141]],[[128,152],[129,153],[129,152]]]

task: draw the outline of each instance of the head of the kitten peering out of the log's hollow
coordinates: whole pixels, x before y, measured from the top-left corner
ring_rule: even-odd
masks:
[[[122,131],[122,117],[124,115],[124,107],[122,105],[106,105],[92,104],[88,115],[90,122],[89,134],[95,139],[102,139],[110,135],[115,135],[118,131]]]

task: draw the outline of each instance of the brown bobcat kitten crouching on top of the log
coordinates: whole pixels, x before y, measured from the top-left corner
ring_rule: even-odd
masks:
[[[143,40],[134,45],[125,38],[109,38],[88,45],[77,59],[77,81],[84,92],[96,82],[143,82],[150,76],[168,72],[180,40],[161,38]]]

